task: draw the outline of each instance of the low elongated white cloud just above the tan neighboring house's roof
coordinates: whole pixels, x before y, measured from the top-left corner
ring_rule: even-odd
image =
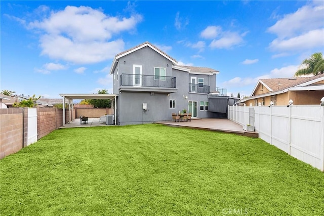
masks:
[[[249,85],[256,85],[260,79],[294,77],[294,74],[296,73],[297,69],[298,69],[298,65],[289,65],[286,67],[274,68],[268,74],[265,74],[265,75],[262,75],[259,77],[255,77],[255,78],[235,77],[229,81],[222,83],[222,86],[224,86],[225,88],[243,87],[243,86],[249,86]]]

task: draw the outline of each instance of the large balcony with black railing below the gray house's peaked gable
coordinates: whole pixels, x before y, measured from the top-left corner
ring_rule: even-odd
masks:
[[[176,78],[153,75],[121,74],[119,91],[173,93]]]

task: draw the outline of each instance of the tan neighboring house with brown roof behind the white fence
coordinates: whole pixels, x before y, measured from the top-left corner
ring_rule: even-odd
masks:
[[[293,100],[295,105],[320,104],[324,96],[324,74],[313,77],[294,77],[261,79],[250,97],[239,100],[239,103],[257,106],[288,105]]]

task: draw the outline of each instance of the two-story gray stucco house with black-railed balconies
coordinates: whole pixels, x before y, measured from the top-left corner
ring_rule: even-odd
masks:
[[[192,118],[209,118],[209,96],[219,94],[218,70],[180,66],[149,42],[117,54],[110,74],[120,125],[171,120],[183,109]]]

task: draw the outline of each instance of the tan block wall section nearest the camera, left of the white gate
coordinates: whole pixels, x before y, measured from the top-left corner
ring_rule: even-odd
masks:
[[[0,159],[2,159],[23,147],[23,109],[0,110]]]

